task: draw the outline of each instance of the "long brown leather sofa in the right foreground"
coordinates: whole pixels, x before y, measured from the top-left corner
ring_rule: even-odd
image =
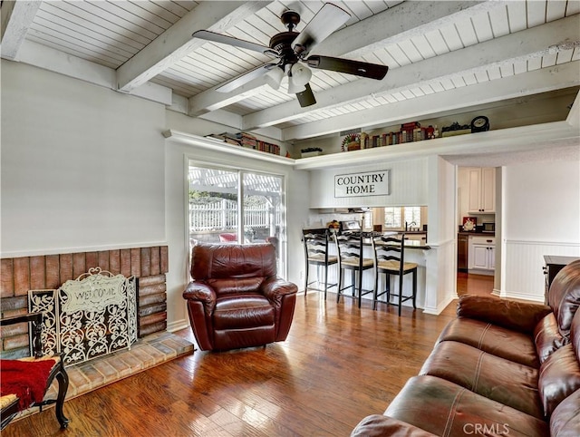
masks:
[[[580,261],[548,304],[461,296],[420,374],[352,436],[580,436]]]

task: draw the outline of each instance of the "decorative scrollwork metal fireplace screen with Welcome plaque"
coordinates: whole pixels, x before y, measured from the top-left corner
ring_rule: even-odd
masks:
[[[131,348],[137,341],[135,277],[95,267],[58,290],[30,290],[28,309],[43,312],[43,353],[65,365]]]

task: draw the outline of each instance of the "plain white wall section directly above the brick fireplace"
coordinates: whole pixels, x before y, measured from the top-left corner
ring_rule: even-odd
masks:
[[[165,241],[165,108],[2,61],[3,257]]]

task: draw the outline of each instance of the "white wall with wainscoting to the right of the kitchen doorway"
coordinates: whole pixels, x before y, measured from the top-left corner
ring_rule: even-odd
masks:
[[[500,296],[543,301],[544,255],[580,256],[580,161],[509,165],[503,197]]]

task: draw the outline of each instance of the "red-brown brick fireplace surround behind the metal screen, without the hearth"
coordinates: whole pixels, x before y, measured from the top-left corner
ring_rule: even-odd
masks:
[[[27,312],[28,290],[56,289],[94,267],[113,275],[138,278],[139,336],[167,328],[167,246],[3,258],[0,264],[2,316]],[[28,354],[27,329],[26,325],[2,329],[2,353],[6,358]]]

